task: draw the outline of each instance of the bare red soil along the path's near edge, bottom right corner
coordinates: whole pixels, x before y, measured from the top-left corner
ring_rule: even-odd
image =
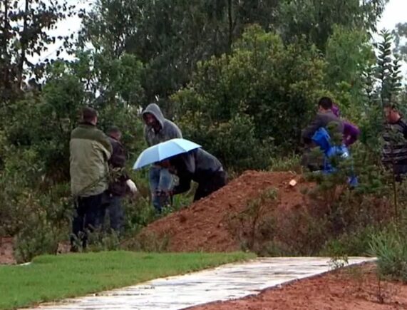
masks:
[[[407,309],[407,285],[381,281],[374,264],[304,279],[256,296],[193,307],[194,310],[389,310]]]

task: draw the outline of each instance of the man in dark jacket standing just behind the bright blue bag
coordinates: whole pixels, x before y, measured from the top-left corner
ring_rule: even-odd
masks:
[[[341,119],[332,112],[333,102],[329,97],[322,97],[318,103],[318,113],[314,120],[304,130],[302,130],[302,140],[305,145],[304,155],[302,156],[302,165],[309,170],[321,170],[322,162],[311,154],[311,149],[315,147],[312,137],[319,128],[328,130],[328,125],[333,125],[334,133],[343,135],[344,124]]]

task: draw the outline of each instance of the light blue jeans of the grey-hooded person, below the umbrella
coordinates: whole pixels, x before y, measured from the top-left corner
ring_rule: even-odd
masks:
[[[168,195],[165,192],[172,190],[174,186],[173,177],[168,169],[153,166],[150,168],[149,182],[150,191],[153,196],[153,206],[157,212],[161,212],[165,205],[170,203]],[[164,194],[164,195],[160,195]]]

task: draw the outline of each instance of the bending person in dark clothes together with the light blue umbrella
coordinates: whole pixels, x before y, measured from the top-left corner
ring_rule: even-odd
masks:
[[[133,169],[156,162],[177,175],[178,185],[169,192],[171,195],[190,190],[191,181],[198,183],[194,202],[219,190],[227,184],[227,173],[220,161],[202,150],[200,145],[185,139],[172,139],[144,150]]]

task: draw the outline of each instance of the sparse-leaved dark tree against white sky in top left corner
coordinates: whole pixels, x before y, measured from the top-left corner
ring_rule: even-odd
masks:
[[[61,4],[39,0],[0,2],[1,103],[13,100],[21,93],[26,76],[41,78],[44,63],[31,63],[29,57],[40,55],[47,50],[49,43],[55,43],[56,37],[47,31],[54,29],[65,16],[71,16],[73,8],[66,1]]]

